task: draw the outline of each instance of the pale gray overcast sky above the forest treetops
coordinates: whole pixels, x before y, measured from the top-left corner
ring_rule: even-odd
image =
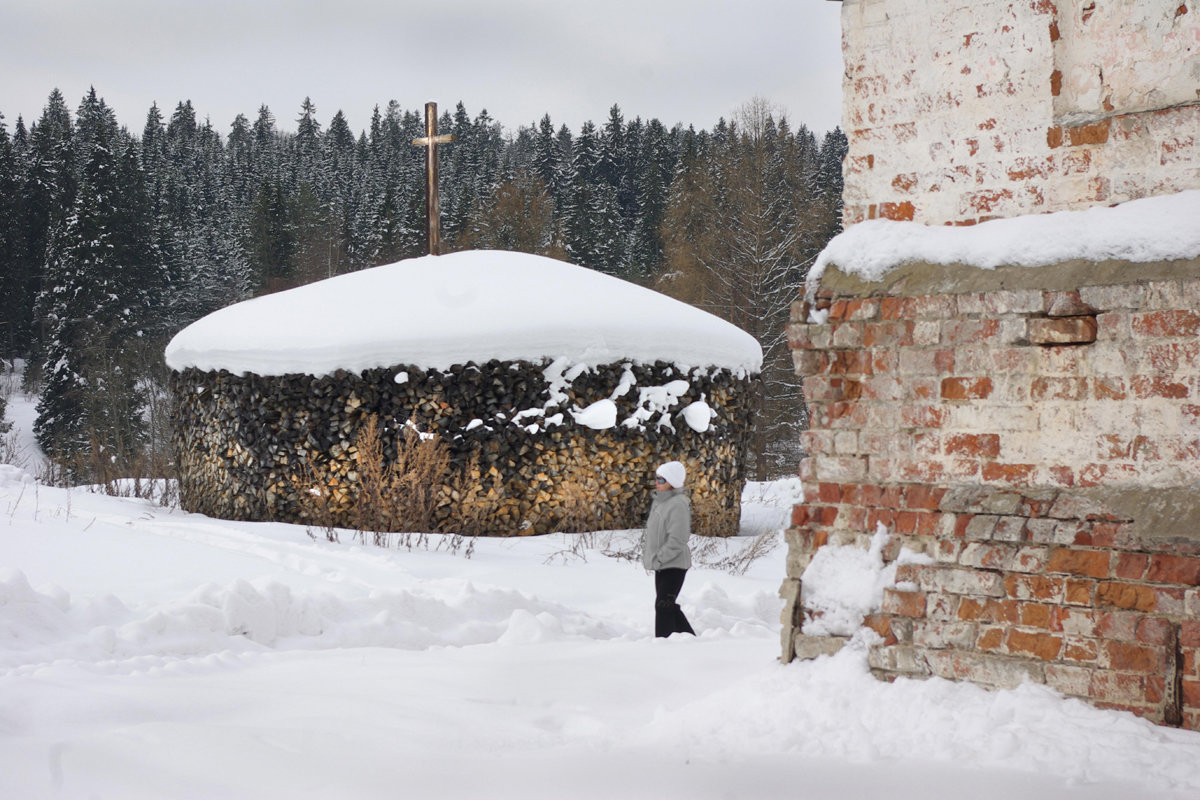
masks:
[[[710,128],[752,97],[818,137],[840,124],[840,2],[828,0],[4,0],[0,113],[37,120],[88,88],[140,134],[191,100],[222,134],[262,104],[295,130],[367,127],[389,100],[462,101],[508,132],[548,113],[577,132],[625,119]]]

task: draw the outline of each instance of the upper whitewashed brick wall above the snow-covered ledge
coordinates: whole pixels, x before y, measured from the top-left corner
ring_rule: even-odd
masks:
[[[844,0],[845,224],[1200,188],[1198,6]]]

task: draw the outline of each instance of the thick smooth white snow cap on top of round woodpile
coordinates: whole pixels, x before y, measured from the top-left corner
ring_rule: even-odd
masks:
[[[175,371],[283,375],[490,360],[667,361],[755,373],[739,327],[650,289],[542,255],[467,251],[407,259],[204,317],[167,345]]]

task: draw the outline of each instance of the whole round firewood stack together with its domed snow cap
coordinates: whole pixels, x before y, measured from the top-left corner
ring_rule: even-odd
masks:
[[[314,330],[310,303],[359,313]],[[182,503],[353,527],[374,422],[385,465],[420,437],[449,453],[439,530],[636,528],[654,469],[679,459],[696,533],[731,535],[757,359],[709,314],[539,257],[342,276],[217,312],[168,348]]]

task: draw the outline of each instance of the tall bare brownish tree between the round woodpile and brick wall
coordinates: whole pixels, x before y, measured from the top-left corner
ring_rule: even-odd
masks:
[[[785,338],[787,314],[824,243],[820,154],[764,101],[689,142],[664,224],[661,288],[732,321],[763,349],[762,405],[751,443],[761,476],[791,469],[805,425]]]

